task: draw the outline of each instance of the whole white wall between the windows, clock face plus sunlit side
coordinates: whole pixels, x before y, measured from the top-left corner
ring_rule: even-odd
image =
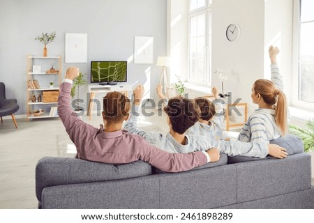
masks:
[[[225,29],[231,23],[241,27],[241,36],[230,43]],[[278,63],[284,75],[289,97],[292,75],[292,0],[213,0],[212,69],[222,69],[228,76],[225,89],[232,92],[232,102],[243,98],[249,113],[257,107],[251,102],[251,87],[256,79],[270,78],[268,47],[281,48]],[[214,85],[220,87],[216,75]]]

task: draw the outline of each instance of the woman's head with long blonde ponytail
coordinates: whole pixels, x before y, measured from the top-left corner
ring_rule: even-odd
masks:
[[[274,82],[268,79],[257,79],[254,82],[251,94],[254,103],[259,104],[261,100],[269,106],[275,106],[276,124],[284,135],[287,132],[287,105],[285,94],[279,90]]]

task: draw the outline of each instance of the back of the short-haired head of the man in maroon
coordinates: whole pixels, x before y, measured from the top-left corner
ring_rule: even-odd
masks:
[[[103,97],[103,119],[107,123],[122,123],[128,118],[130,100],[121,92],[109,92]]]

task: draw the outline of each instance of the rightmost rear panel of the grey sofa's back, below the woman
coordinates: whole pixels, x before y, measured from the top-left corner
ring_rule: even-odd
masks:
[[[237,167],[237,202],[311,189],[311,155],[232,164]]]

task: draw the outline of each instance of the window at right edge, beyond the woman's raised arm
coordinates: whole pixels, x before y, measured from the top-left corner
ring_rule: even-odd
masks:
[[[314,1],[299,0],[297,101],[314,107]]]

